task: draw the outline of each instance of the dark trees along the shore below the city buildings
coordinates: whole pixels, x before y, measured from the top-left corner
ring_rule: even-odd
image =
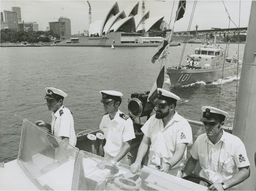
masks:
[[[60,36],[54,33],[52,30],[49,31],[15,31],[13,29],[1,29],[0,34],[1,42],[50,42],[50,37],[53,36],[56,39],[60,39]],[[44,37],[40,36],[44,35]]]

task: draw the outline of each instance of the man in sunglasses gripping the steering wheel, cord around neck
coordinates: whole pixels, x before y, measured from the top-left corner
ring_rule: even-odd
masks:
[[[198,136],[193,144],[182,177],[190,175],[199,160],[200,176],[213,182],[210,190],[237,190],[250,176],[244,143],[223,130],[225,117],[229,116],[227,112],[210,106],[201,110],[206,133]],[[202,181],[200,184],[206,186]]]

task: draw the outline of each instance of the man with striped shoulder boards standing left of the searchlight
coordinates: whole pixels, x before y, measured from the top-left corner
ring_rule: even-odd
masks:
[[[106,90],[100,91],[105,114],[100,123],[106,144],[104,146],[105,158],[128,165],[127,154],[130,151],[131,139],[135,138],[133,122],[118,107],[123,94],[121,92]]]

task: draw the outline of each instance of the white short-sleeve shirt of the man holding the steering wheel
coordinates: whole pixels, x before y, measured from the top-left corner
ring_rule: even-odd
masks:
[[[227,181],[239,171],[238,168],[250,165],[244,143],[237,136],[224,130],[221,139],[215,145],[206,133],[198,136],[190,153],[200,162],[200,176],[211,182]],[[232,188],[240,186],[241,184],[238,184]]]

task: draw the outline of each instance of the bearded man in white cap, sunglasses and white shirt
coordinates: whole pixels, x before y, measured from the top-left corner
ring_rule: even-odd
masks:
[[[135,173],[141,167],[151,143],[148,166],[155,165],[159,171],[180,177],[187,146],[192,144],[192,130],[188,121],[175,111],[176,102],[180,98],[161,88],[157,88],[157,91],[158,95],[154,100],[156,115],[152,115],[141,128],[144,136],[137,158],[131,165],[131,172]]]

